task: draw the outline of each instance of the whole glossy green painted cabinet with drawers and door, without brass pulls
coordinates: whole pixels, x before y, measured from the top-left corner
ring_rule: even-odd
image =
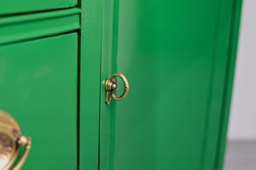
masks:
[[[241,0],[2,1],[0,110],[32,138],[22,169],[221,170],[240,13]],[[108,105],[115,72],[130,91]]]

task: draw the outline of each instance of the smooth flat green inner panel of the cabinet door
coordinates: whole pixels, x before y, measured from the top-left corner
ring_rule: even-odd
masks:
[[[217,17],[217,0],[119,1],[114,169],[201,169]]]

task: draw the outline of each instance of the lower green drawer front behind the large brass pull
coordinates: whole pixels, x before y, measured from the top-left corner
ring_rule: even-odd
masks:
[[[0,109],[32,137],[22,169],[77,169],[77,33],[0,47]]]

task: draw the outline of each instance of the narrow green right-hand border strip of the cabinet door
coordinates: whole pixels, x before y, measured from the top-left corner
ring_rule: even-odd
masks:
[[[211,169],[212,164],[215,164],[216,169],[222,169],[220,162],[223,161],[224,150],[220,151],[219,148],[224,146],[227,132],[226,122],[223,119],[229,116],[229,111],[225,111],[225,108],[230,108],[232,81],[229,81],[234,76],[234,72],[230,71],[230,68],[234,70],[236,59],[236,53],[230,54],[230,52],[236,51],[240,10],[241,0],[220,1],[219,3],[217,45],[212,74],[212,96],[206,128],[203,169]],[[234,21],[236,25],[234,25]],[[220,95],[222,99],[220,99]],[[216,145],[216,142],[218,142],[217,149],[212,147],[212,145]]]

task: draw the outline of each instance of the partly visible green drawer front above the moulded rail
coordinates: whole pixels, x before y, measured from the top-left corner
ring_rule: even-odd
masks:
[[[0,1],[0,14],[19,14],[55,8],[70,8],[76,6],[77,3],[77,0],[3,0]]]

